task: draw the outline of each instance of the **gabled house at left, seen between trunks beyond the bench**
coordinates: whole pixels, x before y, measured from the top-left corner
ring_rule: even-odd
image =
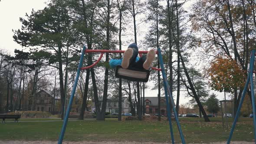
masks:
[[[36,111],[59,111],[56,104],[59,102],[60,96],[53,96],[53,92],[40,90],[36,93]]]

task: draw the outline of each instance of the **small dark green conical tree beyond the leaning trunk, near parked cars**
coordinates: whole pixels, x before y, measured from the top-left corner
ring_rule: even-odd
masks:
[[[211,94],[206,101],[207,111],[212,114],[216,114],[220,110],[220,103],[217,99],[217,95]]]

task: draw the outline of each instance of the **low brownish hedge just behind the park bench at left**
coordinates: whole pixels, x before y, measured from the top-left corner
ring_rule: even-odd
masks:
[[[8,115],[21,115],[22,118],[49,118],[51,114],[46,111],[13,111]]]

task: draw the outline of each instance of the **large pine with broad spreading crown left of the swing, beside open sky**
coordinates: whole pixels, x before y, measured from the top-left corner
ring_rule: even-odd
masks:
[[[77,36],[70,30],[71,20],[66,4],[66,1],[52,0],[44,10],[33,10],[30,16],[26,14],[27,20],[20,18],[22,29],[15,30],[13,36],[14,41],[21,46],[37,46],[39,48],[36,50],[53,53],[49,65],[58,64],[54,67],[59,69],[62,119],[65,103],[62,54],[74,44],[74,37]]]

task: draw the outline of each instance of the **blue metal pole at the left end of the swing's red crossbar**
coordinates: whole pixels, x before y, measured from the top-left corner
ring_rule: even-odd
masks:
[[[70,99],[69,99],[69,106],[68,106],[68,109],[66,111],[66,115],[65,115],[65,118],[64,118],[64,121],[63,121],[61,133],[59,134],[58,144],[62,144],[63,137],[64,137],[64,134],[65,134],[65,131],[66,131],[66,126],[67,126],[67,123],[68,123],[68,120],[69,120],[69,112],[70,112],[71,107],[72,107],[72,102],[73,102],[74,95],[75,95],[75,89],[76,89],[76,86],[77,86],[77,82],[78,82],[79,75],[80,75],[80,69],[82,67],[82,62],[83,62],[83,59],[84,59],[85,49],[86,49],[86,47],[83,46],[82,54],[81,54],[81,57],[80,57],[78,69],[77,69],[76,76],[75,76],[75,83],[73,85],[73,89],[72,89],[71,96],[70,96]]]

